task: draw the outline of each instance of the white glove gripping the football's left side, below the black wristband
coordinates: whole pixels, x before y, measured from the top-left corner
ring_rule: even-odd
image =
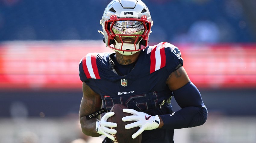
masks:
[[[111,140],[115,140],[114,136],[111,136],[111,134],[116,134],[117,130],[115,129],[110,129],[112,127],[117,127],[117,123],[112,123],[112,122],[107,122],[108,118],[113,116],[115,113],[114,112],[108,112],[106,113],[100,121],[96,122],[96,131],[97,133],[101,135],[105,135]],[[110,127],[110,128],[109,128]]]

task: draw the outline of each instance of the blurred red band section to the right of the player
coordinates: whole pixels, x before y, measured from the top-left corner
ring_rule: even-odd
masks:
[[[256,87],[256,44],[180,45],[180,49],[196,86]]]

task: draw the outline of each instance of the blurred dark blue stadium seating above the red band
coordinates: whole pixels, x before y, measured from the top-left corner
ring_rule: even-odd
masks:
[[[102,39],[99,20],[110,0],[0,1],[0,41]],[[238,1],[145,0],[154,20],[151,42],[180,42],[197,21],[216,25],[214,42],[254,42]],[[200,29],[199,29],[200,30]],[[180,36],[183,35],[183,36]],[[197,42],[185,38],[185,42]],[[208,42],[207,40],[205,42]],[[211,42],[211,41],[210,41]]]

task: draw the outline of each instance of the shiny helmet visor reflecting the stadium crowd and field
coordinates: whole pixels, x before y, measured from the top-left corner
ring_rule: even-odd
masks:
[[[142,35],[145,31],[145,27],[140,21],[124,20],[124,21],[116,21],[112,30],[114,34]],[[131,37],[135,37],[135,36],[131,36]]]

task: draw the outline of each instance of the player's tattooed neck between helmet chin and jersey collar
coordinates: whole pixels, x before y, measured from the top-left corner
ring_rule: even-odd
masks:
[[[119,52],[116,52],[116,60],[121,65],[129,65],[138,60],[139,53],[140,53],[140,51],[133,55],[130,55],[130,56],[124,56],[124,55],[120,54]]]

